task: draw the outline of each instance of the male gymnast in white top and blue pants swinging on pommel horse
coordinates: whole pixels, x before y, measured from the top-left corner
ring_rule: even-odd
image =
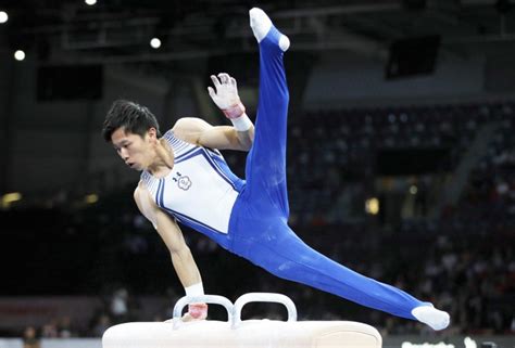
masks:
[[[255,128],[238,96],[236,80],[227,74],[211,76],[214,89],[208,90],[233,127],[187,117],[161,137],[152,113],[128,101],[114,102],[103,125],[105,141],[130,168],[142,171],[134,198],[166,244],[186,294],[201,295],[203,285],[177,221],[279,278],[418,320],[434,330],[445,328],[447,312],[330,260],[288,225],[289,93],[282,57],[290,42],[262,10],[249,13],[260,48]],[[246,180],[230,171],[218,150],[250,151]],[[185,320],[206,314],[205,304],[193,304]]]

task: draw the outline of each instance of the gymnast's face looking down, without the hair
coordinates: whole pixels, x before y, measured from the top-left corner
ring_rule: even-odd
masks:
[[[127,166],[136,170],[145,170],[152,165],[155,129],[151,128],[143,138],[139,134],[126,132],[125,128],[116,129],[111,136],[114,150]]]

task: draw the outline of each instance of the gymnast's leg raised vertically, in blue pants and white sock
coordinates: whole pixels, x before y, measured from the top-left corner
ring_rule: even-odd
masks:
[[[260,100],[254,143],[247,157],[246,194],[254,202],[258,195],[267,197],[263,204],[274,205],[279,215],[288,217],[286,127],[289,93],[282,55],[289,40],[260,9],[250,11],[250,22],[260,44]]]

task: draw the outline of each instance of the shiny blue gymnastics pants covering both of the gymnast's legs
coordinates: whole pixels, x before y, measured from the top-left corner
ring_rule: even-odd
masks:
[[[282,279],[414,319],[411,310],[427,302],[330,260],[303,243],[288,227],[286,127],[289,94],[279,37],[280,33],[272,27],[260,43],[255,138],[247,157],[247,184],[236,201],[229,222],[228,248]]]

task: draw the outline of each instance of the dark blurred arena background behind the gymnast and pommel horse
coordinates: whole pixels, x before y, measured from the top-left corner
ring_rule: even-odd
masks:
[[[281,281],[184,229],[206,292],[284,293],[300,319],[362,321],[385,347],[514,347],[513,3],[88,2],[0,1],[0,347],[99,347],[110,325],[169,318],[183,289],[131,199],[138,173],[101,125],[118,98],[149,106],[163,129],[183,116],[226,124],[206,93],[219,72],[255,115],[252,7],[292,42],[290,224],[452,324],[435,333]],[[224,155],[242,176],[244,154]]]

